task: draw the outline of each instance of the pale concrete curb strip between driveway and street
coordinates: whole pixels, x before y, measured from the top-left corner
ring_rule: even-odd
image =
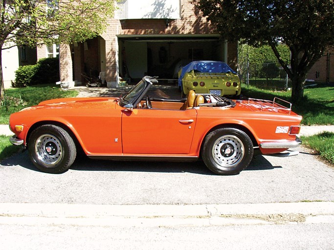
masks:
[[[210,205],[0,204],[0,224],[175,227],[334,223],[334,202]]]

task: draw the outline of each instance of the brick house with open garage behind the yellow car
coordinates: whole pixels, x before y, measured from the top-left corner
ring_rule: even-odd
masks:
[[[104,34],[70,45],[75,84],[84,82],[82,73],[101,71],[109,86],[144,75],[175,78],[180,65],[195,60],[223,61],[236,69],[237,44],[215,33],[189,0],[123,0],[118,6]],[[38,47],[38,59],[56,50]],[[59,53],[62,69],[66,62]]]

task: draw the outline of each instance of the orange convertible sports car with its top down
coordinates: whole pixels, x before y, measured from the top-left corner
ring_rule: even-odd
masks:
[[[82,148],[92,159],[201,157],[223,175],[245,169],[254,151],[278,153],[301,143],[302,117],[288,102],[232,101],[194,91],[184,100],[150,99],[154,83],[146,76],[122,98],[55,99],[24,108],[10,117],[16,134],[10,141],[27,146],[34,165],[48,173],[66,171]]]

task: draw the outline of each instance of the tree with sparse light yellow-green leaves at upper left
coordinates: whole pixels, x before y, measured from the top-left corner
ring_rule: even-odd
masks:
[[[115,0],[0,0],[0,50],[83,42],[106,28]],[[0,53],[0,100],[4,97]]]

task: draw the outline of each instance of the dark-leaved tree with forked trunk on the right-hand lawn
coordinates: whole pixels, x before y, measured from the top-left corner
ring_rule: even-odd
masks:
[[[292,81],[292,100],[301,101],[308,71],[334,45],[333,0],[192,0],[223,38],[268,44]],[[290,50],[290,67],[277,49]]]

